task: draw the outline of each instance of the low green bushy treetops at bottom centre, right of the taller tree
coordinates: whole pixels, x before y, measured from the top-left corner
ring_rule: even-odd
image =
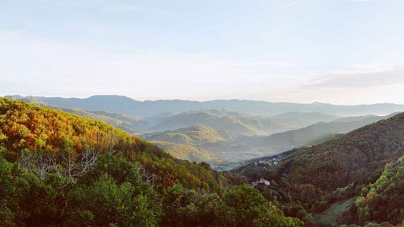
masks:
[[[285,217],[254,188],[241,185],[222,198],[176,185],[162,199],[163,226],[302,226]]]

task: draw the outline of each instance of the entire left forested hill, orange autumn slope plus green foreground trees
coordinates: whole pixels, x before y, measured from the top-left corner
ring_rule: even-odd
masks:
[[[102,122],[0,98],[0,226],[302,226],[276,201]]]

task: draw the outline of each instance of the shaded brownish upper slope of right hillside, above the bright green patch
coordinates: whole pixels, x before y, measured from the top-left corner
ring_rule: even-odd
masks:
[[[335,190],[402,156],[403,138],[404,114],[399,114],[324,144],[298,149],[276,171],[293,182]]]

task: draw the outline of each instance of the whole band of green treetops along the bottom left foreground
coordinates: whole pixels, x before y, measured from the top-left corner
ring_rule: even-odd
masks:
[[[259,191],[243,185],[200,193],[181,185],[160,197],[139,175],[136,163],[101,156],[76,183],[58,175],[40,181],[0,158],[1,226],[301,226]]]

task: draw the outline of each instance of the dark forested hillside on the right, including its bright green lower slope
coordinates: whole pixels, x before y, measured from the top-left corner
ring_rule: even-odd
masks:
[[[403,138],[401,113],[318,146],[288,151],[279,165],[264,171],[252,174],[257,167],[249,164],[250,169],[238,172],[272,180],[272,189],[263,190],[266,197],[279,199],[285,214],[306,224],[314,225],[315,220],[331,226],[369,221],[398,224],[404,217],[399,189],[402,158],[395,162],[404,155]]]

